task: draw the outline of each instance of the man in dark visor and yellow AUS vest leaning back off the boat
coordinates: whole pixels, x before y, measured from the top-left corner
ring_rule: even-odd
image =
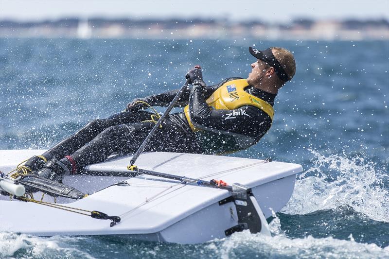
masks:
[[[186,77],[193,85],[178,100],[183,112],[161,124],[145,151],[227,154],[254,145],[269,130],[278,90],[296,71],[293,54],[271,47],[249,47],[256,60],[247,79],[230,77],[206,86],[201,68]],[[61,182],[63,175],[79,173],[89,164],[113,154],[135,152],[158,120],[144,108],[167,106],[178,90],[138,98],[123,112],[89,122],[42,155],[31,157],[21,171]]]

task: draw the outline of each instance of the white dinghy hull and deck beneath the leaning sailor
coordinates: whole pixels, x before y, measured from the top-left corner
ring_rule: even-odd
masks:
[[[7,173],[23,159],[41,153],[2,150],[0,170]],[[89,196],[77,201],[57,199],[58,203],[69,207],[120,216],[119,224],[110,227],[104,220],[34,203],[10,201],[9,197],[0,195],[0,231],[37,236],[125,234],[149,241],[199,243],[224,238],[238,225],[237,206],[233,201],[224,202],[231,197],[230,191],[183,185],[154,176],[115,176],[126,170],[130,158],[111,159],[88,167],[93,171],[111,172],[113,176],[66,176],[65,184]],[[300,165],[290,163],[162,152],[142,154],[137,166],[161,173],[204,177],[203,180],[222,179],[251,188],[252,201],[263,212],[259,213],[263,217],[259,224],[264,233],[267,231],[265,218],[288,202],[295,175],[302,171]],[[125,184],[110,186],[119,181]],[[40,200],[39,193],[34,196]],[[51,202],[53,198],[45,195],[43,201]]]

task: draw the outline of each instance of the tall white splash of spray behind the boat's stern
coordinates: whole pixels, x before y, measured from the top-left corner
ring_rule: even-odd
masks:
[[[307,214],[347,205],[373,220],[389,222],[389,191],[380,187],[384,175],[376,172],[373,162],[311,152],[312,167],[300,175],[282,212]]]

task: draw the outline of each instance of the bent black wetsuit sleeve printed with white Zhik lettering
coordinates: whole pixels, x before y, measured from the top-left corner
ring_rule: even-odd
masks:
[[[205,102],[204,89],[194,86],[189,98],[191,120],[196,127],[262,137],[270,128],[270,117],[251,105],[233,110],[216,110]]]

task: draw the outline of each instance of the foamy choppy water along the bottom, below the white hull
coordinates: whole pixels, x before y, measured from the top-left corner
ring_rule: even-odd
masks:
[[[274,222],[274,221],[273,221]],[[129,241],[113,237],[38,238],[1,233],[1,258],[388,258],[389,246],[337,240],[332,237],[291,239],[279,222],[270,224],[273,237],[249,231],[204,244],[179,245]]]

